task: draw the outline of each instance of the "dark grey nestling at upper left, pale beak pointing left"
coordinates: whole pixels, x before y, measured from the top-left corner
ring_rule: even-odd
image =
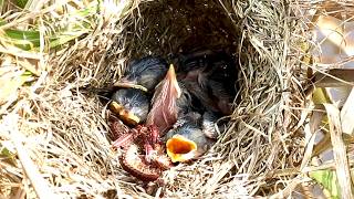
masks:
[[[167,62],[160,57],[146,56],[133,61],[125,72],[125,76],[116,82],[117,87],[135,87],[145,92],[153,91],[164,78],[167,72]]]

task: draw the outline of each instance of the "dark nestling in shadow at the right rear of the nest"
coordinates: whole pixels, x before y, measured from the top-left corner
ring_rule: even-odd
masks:
[[[212,112],[231,114],[236,95],[236,65],[223,52],[200,51],[177,61],[178,80],[186,90]]]

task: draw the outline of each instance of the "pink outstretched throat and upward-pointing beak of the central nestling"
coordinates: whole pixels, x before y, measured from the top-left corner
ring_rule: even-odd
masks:
[[[165,135],[177,122],[177,100],[181,95],[178,85],[175,67],[171,64],[165,78],[156,86],[152,101],[152,109],[147,115],[147,125],[156,125],[160,135]]]

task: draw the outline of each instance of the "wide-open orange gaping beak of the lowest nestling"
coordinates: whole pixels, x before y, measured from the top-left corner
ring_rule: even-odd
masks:
[[[173,163],[187,161],[195,157],[197,144],[181,135],[174,135],[166,143],[167,155]]]

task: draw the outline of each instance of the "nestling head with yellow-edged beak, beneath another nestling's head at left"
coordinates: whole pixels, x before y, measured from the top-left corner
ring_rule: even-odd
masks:
[[[140,90],[121,88],[112,96],[110,109],[126,125],[136,126],[145,122],[149,108],[149,98]]]

